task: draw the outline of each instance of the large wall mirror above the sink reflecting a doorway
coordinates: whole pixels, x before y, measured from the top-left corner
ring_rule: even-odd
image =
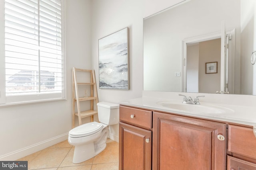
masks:
[[[144,19],[144,90],[256,95],[255,50],[255,0],[185,0]]]

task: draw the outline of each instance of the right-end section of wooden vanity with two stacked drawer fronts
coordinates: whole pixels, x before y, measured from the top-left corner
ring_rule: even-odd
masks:
[[[228,125],[228,170],[256,170],[256,137],[250,127]]]

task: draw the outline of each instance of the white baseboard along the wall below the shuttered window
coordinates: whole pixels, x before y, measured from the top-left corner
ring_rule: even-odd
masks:
[[[24,156],[28,156],[34,152],[38,152],[39,150],[42,150],[42,149],[46,149],[52,145],[55,145],[57,143],[60,143],[62,141],[65,141],[68,139],[68,133],[65,133],[65,134],[62,134],[62,135],[59,135],[59,136],[56,136],[54,138],[51,138],[51,139],[48,139],[46,141],[42,141],[40,143],[37,143],[35,145],[31,145],[29,147],[26,147],[26,148],[23,148],[23,149],[20,149],[20,150],[16,150],[14,152],[11,152],[9,154],[6,154],[6,155],[3,155],[3,156],[0,156],[0,160],[17,160],[17,159],[20,159],[20,158],[23,158]]]

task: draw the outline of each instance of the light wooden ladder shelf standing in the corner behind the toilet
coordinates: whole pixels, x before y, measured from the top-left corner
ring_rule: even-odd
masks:
[[[93,115],[97,114],[98,111],[94,110],[94,100],[98,103],[98,94],[96,88],[96,81],[95,81],[95,72],[94,70],[85,70],[80,68],[72,68],[73,72],[73,90],[72,90],[72,128],[75,125],[75,116],[78,117],[79,125],[82,125],[82,118],[91,116],[91,121],[93,121]],[[90,74],[90,82],[78,82],[77,72],[89,72]],[[83,79],[84,80],[84,79]],[[90,96],[86,96],[85,94],[81,95],[82,87],[89,86]],[[88,87],[87,87],[88,88]],[[81,97],[82,96],[82,97]],[[81,111],[80,109],[80,102],[83,101],[90,101],[90,109]],[[76,113],[77,108],[77,113]]]

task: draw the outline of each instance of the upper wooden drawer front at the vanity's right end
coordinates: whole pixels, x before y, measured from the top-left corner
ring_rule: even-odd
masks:
[[[252,128],[229,125],[228,151],[256,159],[256,138]]]

